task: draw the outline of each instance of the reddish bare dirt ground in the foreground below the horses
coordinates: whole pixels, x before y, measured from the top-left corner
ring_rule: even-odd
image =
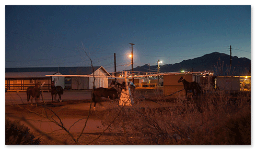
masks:
[[[92,105],[93,104],[94,103],[92,103]],[[59,124],[63,123],[64,127],[74,136],[74,138],[77,138],[81,133],[89,114],[90,100],[63,100],[62,102],[53,103],[48,101],[45,105],[46,107],[43,103],[40,103],[38,107],[28,104],[6,105],[5,115],[6,118],[20,120],[22,124],[29,127],[36,139],[40,139],[40,144],[42,145],[76,144],[66,131],[61,130],[61,127],[44,117],[48,116],[49,118],[57,120]],[[165,103],[162,105],[161,103],[147,101],[137,103],[136,107],[168,107],[168,105],[171,106],[173,103]],[[106,127],[102,125],[101,117],[103,117],[104,114],[107,114],[106,111],[111,111],[113,107],[120,106],[115,102],[101,102],[101,105],[97,104],[96,111],[91,107],[90,116],[82,137],[79,139],[79,144],[123,144],[120,143],[117,138],[120,138],[122,133],[114,131],[109,132],[108,130],[102,133]],[[53,112],[61,119],[61,121]],[[98,139],[94,141],[96,138]]]

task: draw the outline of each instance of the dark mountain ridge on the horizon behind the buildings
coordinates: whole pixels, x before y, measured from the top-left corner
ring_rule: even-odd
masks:
[[[202,57],[183,60],[180,63],[160,65],[160,72],[179,72],[179,71],[214,71],[214,75],[250,75],[251,60],[248,58],[232,58],[230,70],[230,56],[225,53],[213,52]],[[131,70],[130,70],[131,71]],[[137,66],[134,71],[157,72],[157,65]],[[249,74],[248,74],[249,73]]]

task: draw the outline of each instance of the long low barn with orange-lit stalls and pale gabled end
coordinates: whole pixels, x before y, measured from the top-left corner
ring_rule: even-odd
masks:
[[[51,90],[51,81],[63,89],[92,89],[93,77],[74,77],[68,75],[92,75],[92,67],[13,67],[5,68],[5,88],[8,91],[23,91],[36,83],[44,83],[43,90]],[[95,66],[95,87],[108,87],[110,74],[102,67]],[[60,75],[60,76],[46,76]],[[64,75],[64,76],[63,76]]]

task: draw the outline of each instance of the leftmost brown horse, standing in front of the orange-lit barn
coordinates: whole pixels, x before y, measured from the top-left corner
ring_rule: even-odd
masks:
[[[27,100],[29,102],[29,100],[31,100],[31,105],[33,105],[33,98],[36,101],[36,106],[38,103],[38,99],[41,95],[41,89],[40,89],[40,84],[38,83],[35,87],[28,87],[27,88]],[[32,97],[30,99],[30,96]],[[28,103],[29,104],[29,103]]]

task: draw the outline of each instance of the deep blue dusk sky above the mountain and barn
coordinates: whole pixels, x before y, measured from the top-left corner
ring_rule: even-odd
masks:
[[[5,6],[5,67],[114,71],[212,52],[251,59],[251,6]]]

